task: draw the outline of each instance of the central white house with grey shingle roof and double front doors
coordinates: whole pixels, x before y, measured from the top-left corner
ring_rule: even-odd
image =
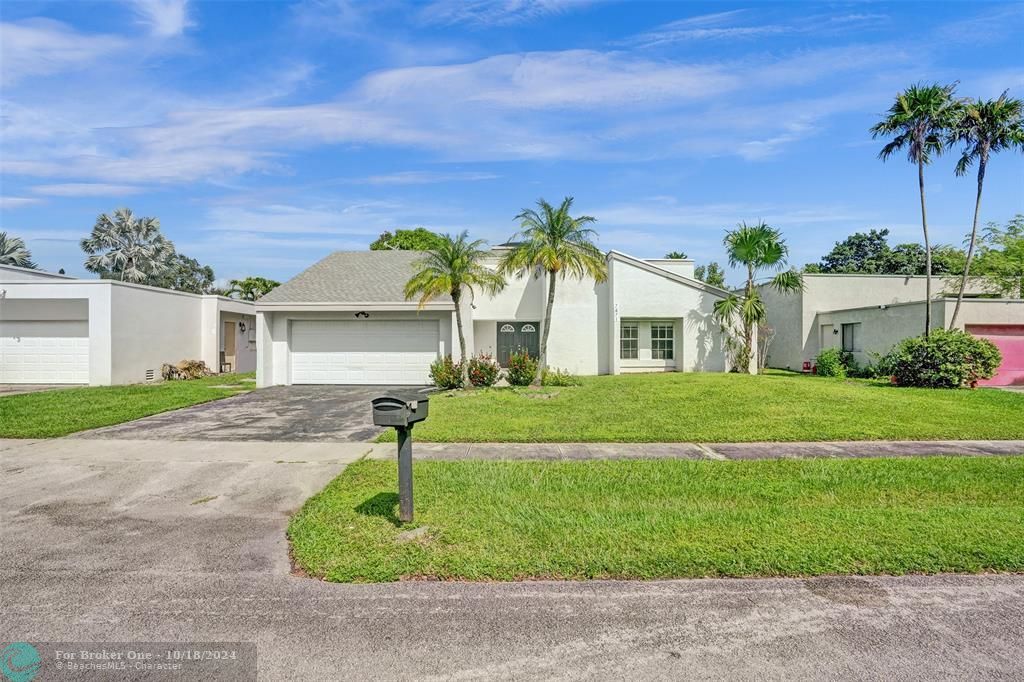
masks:
[[[497,267],[503,247],[494,249]],[[459,356],[455,304],[419,309],[403,288],[421,253],[334,253],[256,302],[256,381],[274,384],[427,384],[430,364]],[[727,292],[694,279],[690,260],[607,255],[608,280],[558,282],[548,365],[583,375],[723,372],[712,318]],[[537,354],[547,280],[511,278],[496,296],[463,301],[468,353],[503,365],[513,350]]]

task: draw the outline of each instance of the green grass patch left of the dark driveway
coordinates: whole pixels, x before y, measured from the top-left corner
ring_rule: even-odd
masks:
[[[122,424],[252,389],[253,374],[193,381],[65,388],[0,397],[0,438],[51,438]]]

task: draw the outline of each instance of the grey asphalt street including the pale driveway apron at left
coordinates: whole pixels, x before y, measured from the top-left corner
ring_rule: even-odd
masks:
[[[1021,679],[1024,577],[331,585],[355,443],[0,443],[0,639],[248,641],[261,679]]]

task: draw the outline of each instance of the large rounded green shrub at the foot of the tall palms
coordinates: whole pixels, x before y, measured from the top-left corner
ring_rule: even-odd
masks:
[[[900,386],[959,388],[990,379],[1002,356],[995,344],[959,330],[903,339],[883,365]]]

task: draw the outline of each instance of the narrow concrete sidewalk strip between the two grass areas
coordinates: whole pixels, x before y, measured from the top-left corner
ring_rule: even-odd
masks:
[[[414,431],[415,440],[415,431]],[[376,443],[371,457],[393,457],[393,442]],[[834,440],[825,442],[417,442],[420,460],[650,459],[771,460],[936,455],[1024,455],[1024,440]]]

